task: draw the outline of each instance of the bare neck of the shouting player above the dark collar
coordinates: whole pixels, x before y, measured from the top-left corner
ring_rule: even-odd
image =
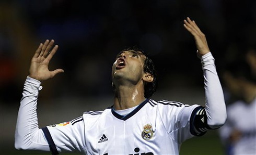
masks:
[[[124,110],[141,104],[146,98],[144,97],[144,87],[120,85],[115,87],[114,109]]]

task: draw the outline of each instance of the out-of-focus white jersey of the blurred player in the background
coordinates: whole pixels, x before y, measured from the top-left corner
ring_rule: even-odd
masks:
[[[227,122],[220,128],[220,137],[229,144],[230,154],[256,154],[256,99],[250,104],[236,101],[227,108]],[[241,132],[236,143],[228,141],[233,130]]]

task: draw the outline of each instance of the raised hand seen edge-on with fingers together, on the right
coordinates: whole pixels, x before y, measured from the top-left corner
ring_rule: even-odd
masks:
[[[197,27],[195,21],[187,17],[187,20],[184,19],[184,27],[187,29],[195,39],[195,45],[197,48],[197,56],[201,57],[210,52],[210,49],[207,45],[206,37],[204,33]]]

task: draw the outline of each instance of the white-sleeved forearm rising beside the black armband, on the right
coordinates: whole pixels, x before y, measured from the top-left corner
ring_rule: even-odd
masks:
[[[212,54],[207,53],[201,57],[201,60],[204,71],[207,124],[211,128],[217,128],[222,126],[227,119],[222,85],[217,75]]]

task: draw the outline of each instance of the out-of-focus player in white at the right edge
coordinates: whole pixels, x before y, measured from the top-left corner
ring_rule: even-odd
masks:
[[[228,119],[219,134],[226,153],[256,154],[256,79],[245,61],[230,63],[223,79],[237,100],[227,106]]]

